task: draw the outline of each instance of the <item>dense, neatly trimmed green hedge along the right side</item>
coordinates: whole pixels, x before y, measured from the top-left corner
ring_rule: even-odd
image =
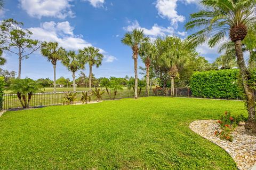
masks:
[[[238,69],[195,72],[190,79],[192,95],[203,98],[241,98],[238,74]]]

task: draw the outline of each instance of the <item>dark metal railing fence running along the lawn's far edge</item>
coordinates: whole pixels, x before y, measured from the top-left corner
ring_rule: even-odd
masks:
[[[76,99],[74,103],[79,103],[82,97],[82,92],[86,91],[77,91]],[[45,92],[45,93],[34,93],[31,96],[30,100],[30,107],[40,107],[40,106],[54,106],[54,105],[61,105],[63,104],[63,98],[67,92]],[[90,93],[89,93],[90,94]],[[255,94],[256,95],[256,94]],[[91,95],[92,101],[96,101],[97,98]],[[143,97],[146,96],[146,90],[143,89],[138,94],[138,96]],[[164,89],[154,89],[149,91],[149,96],[171,96],[170,88]],[[191,90],[187,87],[179,87],[174,88],[174,96],[177,97],[187,97],[187,98],[203,98],[195,97],[191,93]],[[28,94],[26,96],[28,98]],[[122,99],[122,98],[134,98],[133,90],[119,90],[115,96],[115,99]],[[109,94],[105,92],[102,95],[102,100],[111,100],[114,99],[114,91],[109,90]],[[224,99],[230,100],[228,98],[215,98],[215,99]],[[242,100],[241,98],[235,98],[231,100]],[[4,94],[4,101],[3,101],[3,109],[18,109],[22,108],[21,103],[18,99],[17,94]]]

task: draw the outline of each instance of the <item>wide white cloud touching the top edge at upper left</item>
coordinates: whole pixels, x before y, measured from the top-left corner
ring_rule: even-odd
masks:
[[[74,17],[69,2],[73,0],[19,0],[20,7],[31,17],[54,17],[65,19]]]

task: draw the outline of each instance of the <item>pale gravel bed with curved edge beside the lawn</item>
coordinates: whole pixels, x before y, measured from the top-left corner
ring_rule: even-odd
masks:
[[[238,126],[232,133],[234,140],[229,142],[214,136],[218,128],[217,120],[196,120],[189,125],[195,133],[225,149],[235,160],[238,169],[251,170],[256,162],[256,136],[245,132],[244,126]]]

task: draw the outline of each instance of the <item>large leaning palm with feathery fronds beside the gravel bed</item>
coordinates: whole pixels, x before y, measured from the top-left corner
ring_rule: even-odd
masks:
[[[208,42],[212,47],[229,34],[229,38],[235,44],[237,64],[240,68],[244,92],[246,94],[248,120],[245,124],[247,131],[256,132],[255,96],[254,90],[249,86],[250,72],[246,67],[242,41],[248,28],[256,22],[255,0],[203,0],[205,7],[197,13],[191,14],[191,20],[186,23],[186,29],[199,28],[188,39],[190,44],[198,45]]]

